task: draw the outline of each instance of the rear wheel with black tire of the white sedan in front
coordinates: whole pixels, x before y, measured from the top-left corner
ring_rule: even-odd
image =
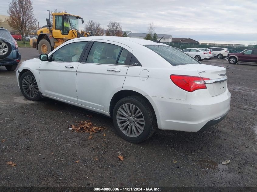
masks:
[[[140,96],[120,99],[113,109],[113,123],[119,135],[132,143],[148,139],[157,127],[154,110]]]

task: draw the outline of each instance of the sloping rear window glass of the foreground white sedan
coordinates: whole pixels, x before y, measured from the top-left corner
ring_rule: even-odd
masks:
[[[161,56],[163,59],[168,61],[172,66],[200,63],[199,61],[190,57],[186,53],[178,49],[175,49],[171,46],[165,46],[165,45],[144,45],[144,46],[156,52],[159,56]]]

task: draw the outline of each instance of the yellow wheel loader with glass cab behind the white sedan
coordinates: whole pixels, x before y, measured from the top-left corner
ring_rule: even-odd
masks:
[[[78,31],[78,20],[84,20],[80,16],[68,13],[52,13],[53,25],[49,19],[37,31],[37,39],[30,39],[30,45],[38,49],[39,54],[48,54],[64,42],[77,37],[92,36],[91,32]]]

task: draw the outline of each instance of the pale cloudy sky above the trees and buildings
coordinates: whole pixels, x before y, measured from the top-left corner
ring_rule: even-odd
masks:
[[[0,15],[8,15],[9,0],[1,0]],[[206,43],[257,44],[256,0],[32,0],[40,26],[47,9],[66,11],[99,22],[120,22],[123,30],[147,33],[153,22],[158,34]],[[80,29],[83,28],[80,23]]]

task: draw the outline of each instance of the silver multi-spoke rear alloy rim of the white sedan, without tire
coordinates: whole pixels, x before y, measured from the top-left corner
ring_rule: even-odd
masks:
[[[120,130],[129,137],[137,137],[144,130],[144,116],[141,110],[131,103],[125,103],[117,111],[116,120]]]

